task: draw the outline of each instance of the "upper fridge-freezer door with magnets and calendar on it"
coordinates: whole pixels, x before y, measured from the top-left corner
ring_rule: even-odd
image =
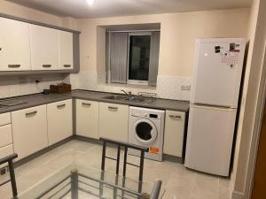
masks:
[[[237,107],[245,42],[196,42],[191,103]],[[232,45],[235,50],[232,50]]]

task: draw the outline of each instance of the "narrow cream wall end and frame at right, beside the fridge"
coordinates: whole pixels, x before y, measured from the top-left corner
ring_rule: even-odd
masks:
[[[265,68],[262,65],[266,44],[265,10],[265,1],[254,0],[248,31],[250,42],[231,178],[232,198],[248,198],[250,191],[254,143],[259,130],[262,90],[265,83]]]

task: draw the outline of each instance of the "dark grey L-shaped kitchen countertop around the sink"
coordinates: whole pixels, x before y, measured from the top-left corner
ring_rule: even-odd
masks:
[[[177,101],[177,100],[158,98],[153,102],[129,102],[126,100],[111,100],[103,98],[105,96],[112,96],[112,95],[113,94],[111,93],[103,93],[97,91],[74,90],[71,93],[66,93],[66,94],[49,94],[49,95],[35,94],[30,96],[19,96],[5,100],[8,100],[9,102],[12,101],[14,103],[15,102],[24,102],[24,103],[14,106],[0,106],[0,113],[18,111],[29,107],[43,105],[46,103],[55,103],[70,98],[85,99],[85,100],[92,100],[92,101],[105,102],[105,103],[128,104],[130,106],[138,106],[138,107],[160,109],[160,110],[185,111],[185,112],[189,110],[189,102],[187,101]],[[5,100],[0,100],[0,103],[1,101]]]

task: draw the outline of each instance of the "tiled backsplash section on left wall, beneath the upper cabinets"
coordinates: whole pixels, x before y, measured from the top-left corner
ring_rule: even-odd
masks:
[[[22,96],[41,93],[51,84],[57,84],[66,79],[66,75],[30,75],[30,76],[4,76],[0,79],[0,98]],[[38,84],[35,80],[40,80]]]

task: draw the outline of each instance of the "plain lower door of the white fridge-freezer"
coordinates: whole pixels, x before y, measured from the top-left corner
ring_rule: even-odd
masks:
[[[236,109],[192,105],[184,166],[228,176]]]

